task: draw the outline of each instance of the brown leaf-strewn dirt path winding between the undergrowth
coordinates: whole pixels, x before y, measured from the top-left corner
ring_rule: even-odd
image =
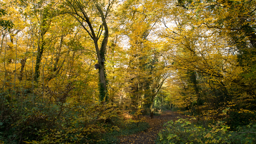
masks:
[[[121,144],[126,143],[155,143],[157,138],[157,134],[159,131],[163,129],[163,124],[171,121],[178,120],[179,118],[188,118],[188,116],[179,114],[176,111],[167,110],[164,111],[163,114],[159,116],[154,116],[154,118],[150,118],[150,116],[142,116],[145,119],[145,122],[149,123],[150,127],[146,132],[140,132],[132,135],[128,135],[122,138],[119,138]]]

